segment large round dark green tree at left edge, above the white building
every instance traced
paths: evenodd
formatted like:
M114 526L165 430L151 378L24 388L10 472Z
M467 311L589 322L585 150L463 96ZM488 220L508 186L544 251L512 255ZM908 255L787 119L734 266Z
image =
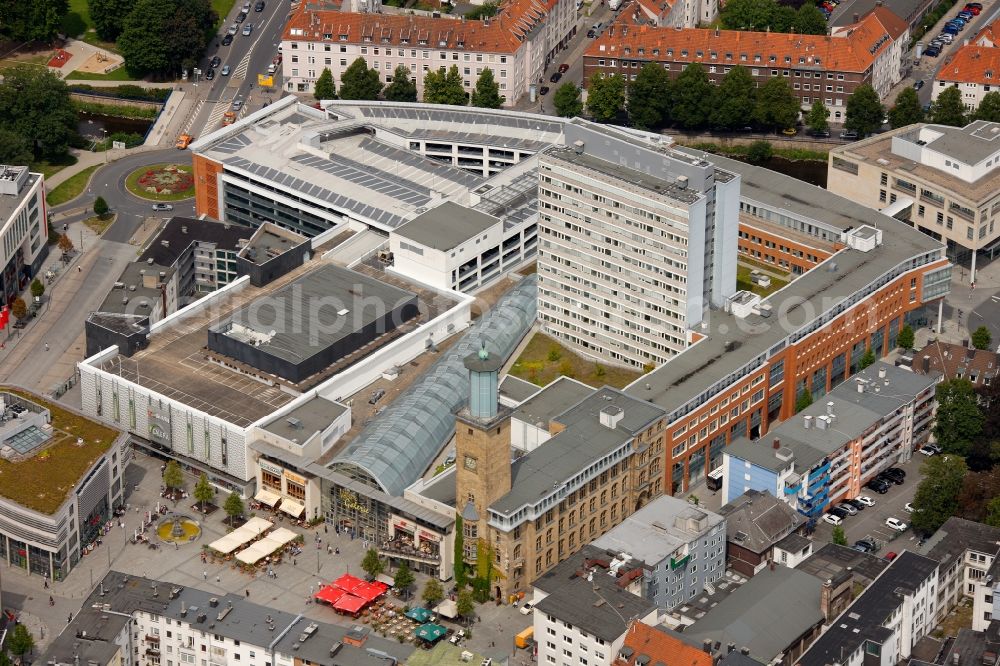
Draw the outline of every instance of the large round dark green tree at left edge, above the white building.
M76 111L69 88L44 67L15 65L0 84L0 130L30 144L38 157L61 157L77 136ZM3 137L0 136L0 139ZM24 144L15 149L21 152ZM0 152L4 149L0 148Z

